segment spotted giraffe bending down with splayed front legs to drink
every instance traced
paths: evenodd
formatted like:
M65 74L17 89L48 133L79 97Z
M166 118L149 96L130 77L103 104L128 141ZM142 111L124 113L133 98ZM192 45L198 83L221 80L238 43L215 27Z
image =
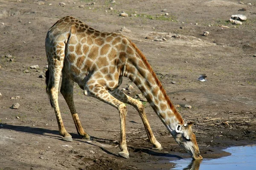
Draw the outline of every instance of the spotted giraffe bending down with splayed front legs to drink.
M80 20L67 16L49 29L45 49L48 62L46 92L54 108L62 140L72 142L72 136L64 127L58 106L61 74L60 92L70 109L77 132L84 139L90 139L90 136L84 131L76 112L73 100L74 82L84 91L85 96L95 97L118 109L121 150L119 156L129 158L125 141L125 103L137 109L152 148L161 150L161 144L155 138L146 118L143 104L118 89L122 77L128 77L143 93L175 141L193 159L202 159L192 132L192 122L184 122L145 56L125 36L96 31Z

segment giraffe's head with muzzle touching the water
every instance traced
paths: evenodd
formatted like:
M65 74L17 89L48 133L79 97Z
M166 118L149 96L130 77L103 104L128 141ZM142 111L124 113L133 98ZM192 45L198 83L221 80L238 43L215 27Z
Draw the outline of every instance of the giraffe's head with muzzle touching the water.
M203 159L200 155L198 144L195 139L195 134L192 132L193 122L188 124L178 124L175 128L175 141L186 150L193 159Z

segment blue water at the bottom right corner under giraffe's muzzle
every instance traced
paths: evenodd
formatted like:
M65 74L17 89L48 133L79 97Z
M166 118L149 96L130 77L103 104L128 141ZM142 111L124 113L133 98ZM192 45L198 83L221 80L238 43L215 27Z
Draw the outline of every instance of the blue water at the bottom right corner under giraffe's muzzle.
M256 145L229 147L230 156L218 159L179 159L171 170L256 170Z

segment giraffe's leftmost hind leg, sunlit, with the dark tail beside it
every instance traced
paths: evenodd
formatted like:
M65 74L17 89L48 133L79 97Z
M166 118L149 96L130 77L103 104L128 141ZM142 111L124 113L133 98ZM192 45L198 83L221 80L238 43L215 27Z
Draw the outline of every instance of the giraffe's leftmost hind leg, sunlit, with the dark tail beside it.
M54 108L54 111L55 111L55 116L58 123L58 129L59 129L60 135L63 136L62 140L72 142L73 141L72 136L69 133L67 133L67 130L64 127L64 124L61 118L61 112L58 106L58 86L59 86L59 81L61 77L61 70L63 68L64 53L59 54L58 56L55 56L55 54L47 53L49 68L46 75L48 74L49 77L46 80L47 82L46 91L47 91L47 94L49 95L52 108Z

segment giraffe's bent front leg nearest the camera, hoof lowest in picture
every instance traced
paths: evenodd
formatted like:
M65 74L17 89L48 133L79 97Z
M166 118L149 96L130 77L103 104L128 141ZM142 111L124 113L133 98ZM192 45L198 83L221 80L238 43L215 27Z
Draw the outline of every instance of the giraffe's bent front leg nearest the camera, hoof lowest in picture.
M99 99L102 102L112 105L113 107L118 109L119 115L120 115L120 146L119 147L121 149L121 152L119 152L118 155L128 159L129 152L128 152L126 141L125 141L125 116L127 114L127 108L125 104L123 102L120 102L115 97L113 97L101 85L90 85L90 83L88 83L87 94L88 96L95 97L96 99Z

